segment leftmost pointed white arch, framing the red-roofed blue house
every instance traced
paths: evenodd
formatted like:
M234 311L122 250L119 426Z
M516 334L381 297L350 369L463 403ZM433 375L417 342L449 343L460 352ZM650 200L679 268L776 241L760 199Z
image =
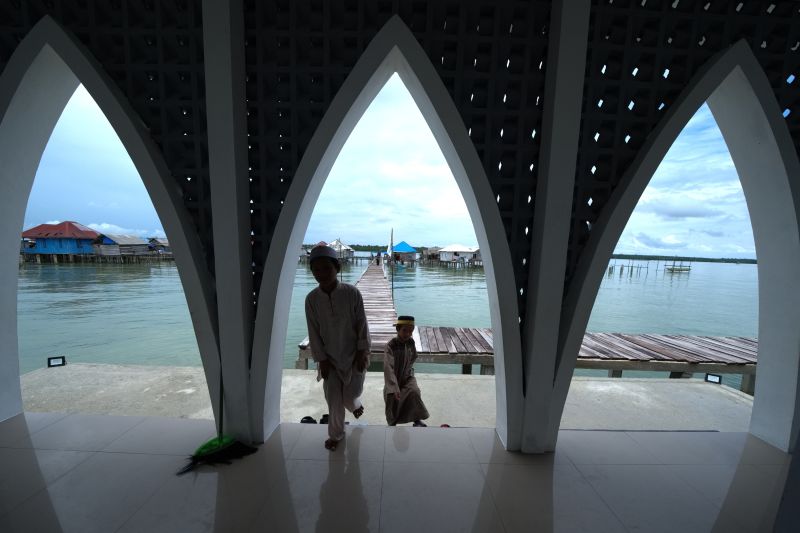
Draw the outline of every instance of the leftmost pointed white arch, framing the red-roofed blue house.
M0 420L21 412L16 320L17 255L33 180L47 141L83 84L125 146L175 256L212 394L219 373L213 284L169 168L139 116L102 66L50 16L20 42L0 76ZM215 407L216 409L216 407Z

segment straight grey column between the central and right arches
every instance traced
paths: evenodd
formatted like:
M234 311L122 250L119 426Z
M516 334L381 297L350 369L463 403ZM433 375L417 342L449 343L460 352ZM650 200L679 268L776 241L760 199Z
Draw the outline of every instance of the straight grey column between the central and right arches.
M583 101L589 1L555 2L547 55L542 151L536 184L528 306L523 328L525 411L522 451L551 451L549 404L557 365L564 271Z

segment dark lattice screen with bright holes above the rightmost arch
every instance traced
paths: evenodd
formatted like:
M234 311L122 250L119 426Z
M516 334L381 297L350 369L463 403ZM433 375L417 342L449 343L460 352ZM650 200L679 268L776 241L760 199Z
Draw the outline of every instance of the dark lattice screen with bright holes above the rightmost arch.
M611 191L692 76L745 39L800 143L800 4L594 0L567 283ZM735 110L731 110L735 112Z

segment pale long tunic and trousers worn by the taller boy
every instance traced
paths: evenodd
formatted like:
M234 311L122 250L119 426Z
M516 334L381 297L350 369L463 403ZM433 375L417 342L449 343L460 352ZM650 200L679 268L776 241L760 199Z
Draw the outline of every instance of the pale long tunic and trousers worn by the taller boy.
M369 353L369 328L361 293L337 282L326 293L319 287L306 296L308 340L314 361L330 361L331 372L323 383L328 403L328 436L344 438L344 410L361 406L364 372L354 366L357 350ZM317 378L319 379L319 377Z

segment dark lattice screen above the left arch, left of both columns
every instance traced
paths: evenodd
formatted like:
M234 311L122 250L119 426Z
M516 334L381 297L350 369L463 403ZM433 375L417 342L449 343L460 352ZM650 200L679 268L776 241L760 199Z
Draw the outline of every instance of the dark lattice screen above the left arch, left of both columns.
M149 129L213 272L200 0L3 0L0 69L45 15L89 49Z

